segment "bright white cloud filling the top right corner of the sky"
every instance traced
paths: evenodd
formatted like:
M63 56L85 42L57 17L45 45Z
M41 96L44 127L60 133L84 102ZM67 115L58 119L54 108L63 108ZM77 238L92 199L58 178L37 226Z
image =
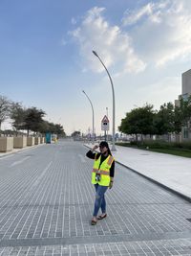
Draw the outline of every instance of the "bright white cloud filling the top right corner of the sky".
M146 62L164 66L191 54L191 3L166 0L125 12L123 25L131 27L138 54Z

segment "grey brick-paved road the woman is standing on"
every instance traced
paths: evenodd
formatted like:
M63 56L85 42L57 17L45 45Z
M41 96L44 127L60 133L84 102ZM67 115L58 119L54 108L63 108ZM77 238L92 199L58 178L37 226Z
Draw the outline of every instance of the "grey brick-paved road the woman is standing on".
M0 158L0 255L191 255L191 204L117 165L90 225L93 161L69 141Z

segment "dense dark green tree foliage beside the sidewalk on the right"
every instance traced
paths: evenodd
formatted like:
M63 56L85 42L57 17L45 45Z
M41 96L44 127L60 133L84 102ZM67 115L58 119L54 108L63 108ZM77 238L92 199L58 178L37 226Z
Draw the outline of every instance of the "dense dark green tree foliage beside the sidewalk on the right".
M167 103L154 111L152 105L138 107L121 120L119 130L126 134L179 134L182 127L191 128L191 96L181 99L180 105Z

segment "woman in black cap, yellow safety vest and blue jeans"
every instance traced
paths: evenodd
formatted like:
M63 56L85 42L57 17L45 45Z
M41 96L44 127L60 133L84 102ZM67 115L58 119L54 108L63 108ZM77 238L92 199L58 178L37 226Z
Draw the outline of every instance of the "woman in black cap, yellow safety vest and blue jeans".
M98 147L100 152L94 152ZM113 187L115 159L106 141L100 142L99 146L94 146L91 151L86 153L86 156L95 159L92 171L92 183L96 188L96 200L91 224L96 225L97 220L102 220L107 217L104 194L108 187L110 189ZM97 217L99 208L101 208L102 214Z

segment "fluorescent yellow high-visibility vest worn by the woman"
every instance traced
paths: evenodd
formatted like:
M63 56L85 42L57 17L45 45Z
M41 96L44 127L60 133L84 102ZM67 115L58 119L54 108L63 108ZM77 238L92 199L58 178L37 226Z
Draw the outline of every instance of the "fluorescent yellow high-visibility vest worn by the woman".
M100 186L109 186L110 168L114 161L114 157L112 155L108 155L108 157L101 163L101 165L100 160L101 155L98 157L98 159L95 158L95 163L92 172L92 183L98 183ZM100 181L96 181L96 174L100 175Z

